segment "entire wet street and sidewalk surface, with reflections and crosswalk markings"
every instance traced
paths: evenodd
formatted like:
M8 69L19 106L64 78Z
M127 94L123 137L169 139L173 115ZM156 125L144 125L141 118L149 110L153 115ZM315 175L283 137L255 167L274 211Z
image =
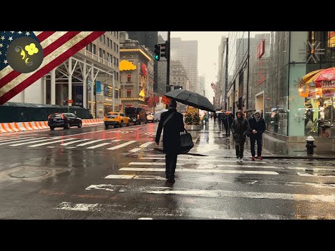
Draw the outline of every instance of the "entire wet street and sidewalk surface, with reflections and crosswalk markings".
M334 219L334 160L237 163L210 121L165 181L157 123L0 135L1 219ZM271 155L264 151L264 155Z

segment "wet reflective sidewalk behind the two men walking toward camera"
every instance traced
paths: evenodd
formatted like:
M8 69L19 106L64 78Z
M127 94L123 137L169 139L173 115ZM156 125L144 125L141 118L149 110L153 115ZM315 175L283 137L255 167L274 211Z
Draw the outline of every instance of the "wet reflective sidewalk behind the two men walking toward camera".
M193 137L195 146L188 154L217 156L219 158L236 158L235 145L230 137L225 137L225 129L219 128L218 123L214 124L213 119L209 119L209 123L202 130L188 131ZM264 142L264 139L263 139ZM274 144L278 146L278 144ZM263 144L264 146L264 144ZM255 146L257 149L257 146ZM313 155L307 155L306 147L301 149L301 146L294 146L293 149L288 149L289 154L283 153L279 147L272 147L272 149L262 148L263 158L295 158L295 159L334 159L334 151L316 152ZM257 151L257 150L256 150ZM246 138L244 145L244 158L251 158L250 139Z

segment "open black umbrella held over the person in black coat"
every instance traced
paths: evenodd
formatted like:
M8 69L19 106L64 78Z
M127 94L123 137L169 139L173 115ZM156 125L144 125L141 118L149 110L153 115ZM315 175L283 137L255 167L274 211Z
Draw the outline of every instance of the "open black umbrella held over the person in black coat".
M185 105L191 105L195 108L199 108L209 112L215 112L214 106L211 105L208 98L201 96L198 93L192 91L186 91L183 89L175 89L164 94L168 98L181 102Z

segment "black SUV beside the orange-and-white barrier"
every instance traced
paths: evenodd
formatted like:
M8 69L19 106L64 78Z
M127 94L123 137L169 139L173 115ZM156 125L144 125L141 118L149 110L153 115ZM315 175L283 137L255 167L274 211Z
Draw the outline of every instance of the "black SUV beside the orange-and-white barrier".
M47 126L54 128L70 129L71 126L82 127L82 119L73 113L53 113L47 117Z

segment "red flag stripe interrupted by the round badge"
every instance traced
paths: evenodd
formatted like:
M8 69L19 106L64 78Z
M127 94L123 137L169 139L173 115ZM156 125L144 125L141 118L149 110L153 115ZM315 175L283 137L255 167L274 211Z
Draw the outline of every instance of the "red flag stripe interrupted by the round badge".
M56 40L53 39L52 40L53 42L50 45L47 45L47 47L43 49L44 58L50 53L52 53L54 50L56 50L58 47L66 43L68 40L77 36L78 33L80 33L80 31L75 31L75 32L70 31L70 32L64 33L63 36L61 36L60 38L57 38ZM6 75L5 77L1 79L0 88L2 88L6 84L8 84L8 82L12 81L13 79L15 79L15 77L18 77L20 75L21 73L18 73L16 70L13 70L11 73L9 73L8 75Z

